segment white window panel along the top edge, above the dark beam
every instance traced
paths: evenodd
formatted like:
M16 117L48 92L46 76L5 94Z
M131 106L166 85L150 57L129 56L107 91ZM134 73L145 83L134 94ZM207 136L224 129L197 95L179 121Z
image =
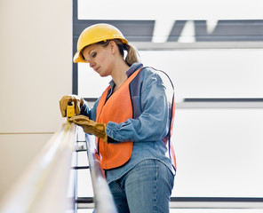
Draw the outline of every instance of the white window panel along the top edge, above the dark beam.
M262 1L253 0L78 0L80 20L260 20ZM107 7L101 7L107 5ZM125 5L129 9L124 10ZM139 6L138 6L139 5ZM226 6L227 5L227 6ZM91 8L100 8L91 10ZM146 10L147 8L147 10ZM104 9L104 10L103 10ZM136 12L136 14L134 14Z

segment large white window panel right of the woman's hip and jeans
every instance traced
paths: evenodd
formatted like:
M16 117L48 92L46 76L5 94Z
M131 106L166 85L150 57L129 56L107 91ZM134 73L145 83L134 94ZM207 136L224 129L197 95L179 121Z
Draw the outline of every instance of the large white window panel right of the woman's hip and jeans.
M177 109L176 197L263 197L263 109Z

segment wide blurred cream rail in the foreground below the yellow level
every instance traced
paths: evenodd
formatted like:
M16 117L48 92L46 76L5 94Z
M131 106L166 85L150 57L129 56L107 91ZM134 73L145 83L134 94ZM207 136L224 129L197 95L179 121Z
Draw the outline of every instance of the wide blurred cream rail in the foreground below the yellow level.
M1 213L65 212L68 181L76 146L76 124L64 123L0 201Z

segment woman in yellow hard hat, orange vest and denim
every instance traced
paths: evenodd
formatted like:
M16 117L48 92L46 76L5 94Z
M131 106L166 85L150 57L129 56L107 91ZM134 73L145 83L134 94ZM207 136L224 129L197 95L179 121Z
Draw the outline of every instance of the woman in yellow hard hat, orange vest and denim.
M160 75L143 67L138 51L108 24L84 29L74 62L112 77L92 108L67 95L60 99L60 111L66 116L68 102L74 101L78 115L69 121L97 137L97 156L118 212L169 212L175 172L163 143L171 118Z

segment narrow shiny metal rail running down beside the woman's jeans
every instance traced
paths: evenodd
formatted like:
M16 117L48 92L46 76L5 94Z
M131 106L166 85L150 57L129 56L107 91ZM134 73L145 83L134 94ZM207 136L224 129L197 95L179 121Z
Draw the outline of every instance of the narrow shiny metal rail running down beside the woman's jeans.
M116 213L117 210L113 196L110 193L108 183L103 170L101 169L100 161L95 158L94 139L88 134L85 134L85 138L91 170L96 213Z

